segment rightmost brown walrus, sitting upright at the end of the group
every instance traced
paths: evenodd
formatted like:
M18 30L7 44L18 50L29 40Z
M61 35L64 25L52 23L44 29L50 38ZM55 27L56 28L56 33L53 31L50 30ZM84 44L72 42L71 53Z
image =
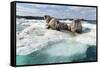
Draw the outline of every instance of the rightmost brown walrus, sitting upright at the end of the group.
M80 19L75 19L68 26L68 30L73 33L82 33L82 23Z

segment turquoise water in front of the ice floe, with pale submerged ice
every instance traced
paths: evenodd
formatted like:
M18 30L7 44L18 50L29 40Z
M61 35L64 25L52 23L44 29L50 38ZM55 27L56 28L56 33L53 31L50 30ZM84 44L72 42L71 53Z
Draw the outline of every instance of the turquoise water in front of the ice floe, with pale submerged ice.
M91 61L96 59L96 49L74 41L48 43L47 47L29 55L17 55L17 65Z

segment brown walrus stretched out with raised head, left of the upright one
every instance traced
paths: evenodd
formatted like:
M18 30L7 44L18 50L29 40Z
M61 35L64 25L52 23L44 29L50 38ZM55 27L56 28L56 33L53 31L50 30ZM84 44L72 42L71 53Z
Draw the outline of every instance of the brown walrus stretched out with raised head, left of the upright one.
M65 23L59 22L58 19L51 17L49 15L45 15L44 19L46 20L47 29L51 28L54 30L67 30L68 26Z

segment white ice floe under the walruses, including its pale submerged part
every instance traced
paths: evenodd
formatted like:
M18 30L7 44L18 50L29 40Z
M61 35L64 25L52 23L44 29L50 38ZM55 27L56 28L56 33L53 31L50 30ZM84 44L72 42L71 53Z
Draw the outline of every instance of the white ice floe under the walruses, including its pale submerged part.
M71 21L63 21L71 22ZM31 23L31 24L30 24ZM28 55L35 51L41 50L47 46L55 46L55 49L48 49L46 53L50 56L68 56L72 57L76 54L85 54L89 46L96 45L96 25L83 22L83 31L87 28L88 32L73 36L68 31L56 31L46 29L44 20L27 20L22 23L22 26L27 26L17 36L16 53L17 55ZM65 49L59 46L65 46ZM59 52L56 52L60 50ZM65 51L66 50L66 51ZM56 53L55 53L56 52ZM67 54L65 54L67 53ZM85 56L85 55L84 55ZM83 57L84 57L83 56Z

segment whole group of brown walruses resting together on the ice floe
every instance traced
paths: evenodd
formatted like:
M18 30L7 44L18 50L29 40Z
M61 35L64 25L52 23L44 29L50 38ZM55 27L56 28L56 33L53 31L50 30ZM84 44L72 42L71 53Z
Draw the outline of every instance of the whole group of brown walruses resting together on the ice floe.
M68 30L73 33L82 33L82 23L80 19L73 20L70 25L67 23L60 22L55 17L45 15L44 19L46 20L47 29L51 28L53 30Z

